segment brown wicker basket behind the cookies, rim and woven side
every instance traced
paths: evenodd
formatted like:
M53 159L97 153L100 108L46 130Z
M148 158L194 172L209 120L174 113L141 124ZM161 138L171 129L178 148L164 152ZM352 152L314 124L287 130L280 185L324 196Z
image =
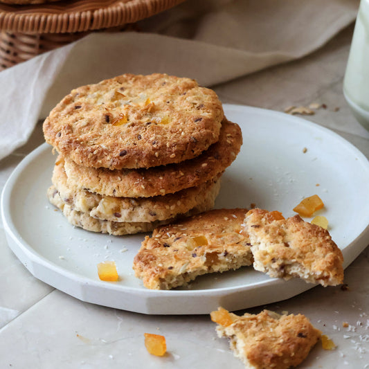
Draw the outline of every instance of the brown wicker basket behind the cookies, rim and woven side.
M38 6L0 4L0 70L80 39L130 24L184 0L69 0Z

